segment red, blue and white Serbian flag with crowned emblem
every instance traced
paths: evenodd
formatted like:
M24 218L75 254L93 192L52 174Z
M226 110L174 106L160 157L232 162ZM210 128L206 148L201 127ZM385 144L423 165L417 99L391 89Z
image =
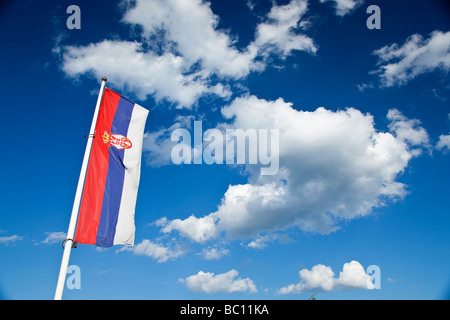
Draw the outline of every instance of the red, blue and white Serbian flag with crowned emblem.
M134 211L148 110L105 89L81 199L75 243L134 244Z

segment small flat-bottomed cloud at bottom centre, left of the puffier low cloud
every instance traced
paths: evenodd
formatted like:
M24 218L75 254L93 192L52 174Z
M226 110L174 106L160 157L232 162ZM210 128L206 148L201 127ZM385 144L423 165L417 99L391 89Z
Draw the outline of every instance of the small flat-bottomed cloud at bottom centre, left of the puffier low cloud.
M249 278L241 279L236 277L239 272L232 269L228 272L214 275L211 272L199 271L197 274L180 279L180 282L186 283L189 290L194 292L216 293L216 292L245 292L255 293L255 284Z

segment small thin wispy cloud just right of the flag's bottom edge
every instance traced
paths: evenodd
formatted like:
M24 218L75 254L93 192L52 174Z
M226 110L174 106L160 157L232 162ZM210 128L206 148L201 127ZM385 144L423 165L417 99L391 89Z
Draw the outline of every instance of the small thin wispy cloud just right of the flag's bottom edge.
M154 243L148 239L144 239L141 243L135 245L134 247L124 246L117 251L132 251L133 254L148 256L157 260L157 262L175 260L185 253L185 251L179 246L175 246L174 248L166 247L158 243Z

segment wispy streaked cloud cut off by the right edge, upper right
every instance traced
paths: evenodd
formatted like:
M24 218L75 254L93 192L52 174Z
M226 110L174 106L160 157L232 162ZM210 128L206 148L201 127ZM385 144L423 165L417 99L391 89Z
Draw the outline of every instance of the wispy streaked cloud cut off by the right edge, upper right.
M428 39L419 34L410 36L399 46L397 43L375 50L379 58L381 84L386 87L404 85L417 76L450 69L450 31L433 31Z

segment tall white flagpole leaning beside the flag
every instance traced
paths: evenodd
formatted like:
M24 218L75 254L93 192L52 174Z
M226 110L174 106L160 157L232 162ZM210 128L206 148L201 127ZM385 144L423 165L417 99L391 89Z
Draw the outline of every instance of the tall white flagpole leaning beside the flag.
M58 283L56 285L55 300L61 300L64 290L64 284L66 282L67 267L69 266L70 251L73 246L73 238L75 235L75 226L77 224L78 211L80 209L81 194L83 192L84 180L86 177L87 166L89 162L89 155L91 154L92 140L94 139L95 126L97 125L98 113L100 111L100 104L103 97L103 91L105 89L106 78L102 78L102 84L100 86L100 92L98 93L97 105L95 106L94 117L92 118L91 130L89 131L88 142L86 144L86 150L84 152L83 164L81 165L81 173L78 178L77 191L75 193L75 200L73 202L72 215L70 216L69 230L67 231L67 237L64 246L63 258L61 261L61 269L59 270Z

